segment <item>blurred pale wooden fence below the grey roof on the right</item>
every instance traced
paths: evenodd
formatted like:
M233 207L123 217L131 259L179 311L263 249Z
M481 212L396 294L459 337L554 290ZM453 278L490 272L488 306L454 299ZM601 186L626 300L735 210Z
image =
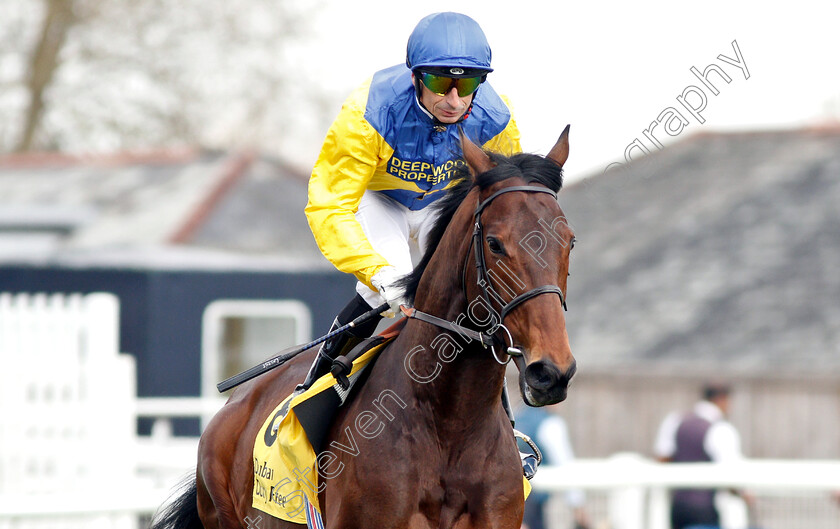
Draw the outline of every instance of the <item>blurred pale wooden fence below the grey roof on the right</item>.
M795 353L792 353L795 354ZM732 387L729 421L756 458L840 458L840 376L719 366L588 366L585 357L560 405L579 457L651 454L662 419L687 411L708 381Z

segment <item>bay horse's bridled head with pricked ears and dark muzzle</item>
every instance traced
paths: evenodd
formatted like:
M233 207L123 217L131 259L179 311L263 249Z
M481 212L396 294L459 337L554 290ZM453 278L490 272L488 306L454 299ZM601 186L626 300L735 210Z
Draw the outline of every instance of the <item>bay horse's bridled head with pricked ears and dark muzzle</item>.
M555 194L568 134L567 126L545 158L488 156L462 137L464 159L479 183L466 294L489 302L501 320L496 336L513 355L521 351L514 360L530 406L564 400L575 373L563 312L574 233Z

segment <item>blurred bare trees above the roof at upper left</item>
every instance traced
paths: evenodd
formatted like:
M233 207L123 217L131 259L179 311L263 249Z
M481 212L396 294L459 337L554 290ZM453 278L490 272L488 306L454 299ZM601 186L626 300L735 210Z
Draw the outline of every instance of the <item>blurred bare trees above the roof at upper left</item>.
M0 48L20 65L0 70L0 150L299 156L332 118L307 77L323 0L22 1L0 0L0 42L23 36Z

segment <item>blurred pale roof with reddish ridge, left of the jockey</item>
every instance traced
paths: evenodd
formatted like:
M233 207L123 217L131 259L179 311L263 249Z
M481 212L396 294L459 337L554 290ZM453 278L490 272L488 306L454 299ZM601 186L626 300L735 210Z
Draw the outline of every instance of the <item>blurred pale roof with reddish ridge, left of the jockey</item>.
M0 262L330 268L306 176L249 153L0 158Z

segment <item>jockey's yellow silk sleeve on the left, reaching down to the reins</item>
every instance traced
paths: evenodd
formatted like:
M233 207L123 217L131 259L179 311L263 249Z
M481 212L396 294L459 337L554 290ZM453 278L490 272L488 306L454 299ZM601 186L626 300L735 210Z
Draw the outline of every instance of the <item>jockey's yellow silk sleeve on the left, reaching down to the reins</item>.
M345 101L330 127L309 179L305 212L324 257L373 288L370 278L388 261L373 249L355 216L384 143L364 117L368 86Z

